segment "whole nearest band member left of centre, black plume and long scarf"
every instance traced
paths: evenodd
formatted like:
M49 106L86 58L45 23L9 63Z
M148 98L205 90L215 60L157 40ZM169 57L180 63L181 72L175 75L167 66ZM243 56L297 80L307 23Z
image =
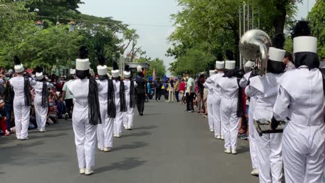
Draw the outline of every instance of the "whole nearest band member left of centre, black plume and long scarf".
M100 85L90 77L90 62L88 48L81 46L76 59L76 77L78 79L67 86L74 96L74 112L72 126L78 156L79 173L91 175L94 173L94 155L96 148L97 124L101 123L99 109Z

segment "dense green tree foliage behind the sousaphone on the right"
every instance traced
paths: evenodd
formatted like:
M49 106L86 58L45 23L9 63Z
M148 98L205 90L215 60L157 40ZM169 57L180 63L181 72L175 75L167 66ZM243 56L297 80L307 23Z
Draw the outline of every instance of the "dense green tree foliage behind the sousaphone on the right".
M255 22L258 22L257 7L260 7L260 29L273 35L292 24L296 3L300 1L256 0L251 1L250 6L255 7ZM239 7L243 5L244 1L238 0L178 0L182 10L171 15L176 30L169 36L172 46L166 53L176 61L169 71L181 74L208 69L216 55L228 49L235 53L235 60L239 60Z

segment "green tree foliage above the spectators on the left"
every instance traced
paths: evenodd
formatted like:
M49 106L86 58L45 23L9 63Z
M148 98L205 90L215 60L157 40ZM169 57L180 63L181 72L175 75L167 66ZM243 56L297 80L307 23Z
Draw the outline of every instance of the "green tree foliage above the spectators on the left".
M90 48L94 69L99 55L104 55L106 64L111 65L126 49L131 55L129 60L145 53L138 46L140 37L136 30L112 17L84 15L77 10L80 3L81 0L1 1L1 66L12 67L13 55L19 55L26 67L70 66L79 46ZM34 26L38 20L43 21L42 30ZM69 32L67 23L71 20L76 22L76 28ZM122 38L117 36L120 34Z

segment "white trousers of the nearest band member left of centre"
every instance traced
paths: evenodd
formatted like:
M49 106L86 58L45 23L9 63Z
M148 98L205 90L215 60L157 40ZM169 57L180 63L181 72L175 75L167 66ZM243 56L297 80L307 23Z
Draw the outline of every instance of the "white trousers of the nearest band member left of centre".
M74 141L79 168L92 168L96 148L96 125L90 125L88 111L74 108L72 115Z

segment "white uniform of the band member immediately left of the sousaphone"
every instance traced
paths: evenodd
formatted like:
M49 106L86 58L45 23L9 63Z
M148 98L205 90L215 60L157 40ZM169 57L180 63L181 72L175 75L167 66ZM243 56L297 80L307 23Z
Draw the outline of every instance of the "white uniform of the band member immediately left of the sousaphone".
M223 77L218 80L217 85L221 87L221 121L222 131L224 132L224 148L237 148L237 134L239 119L237 116L238 107L238 81L237 78Z

